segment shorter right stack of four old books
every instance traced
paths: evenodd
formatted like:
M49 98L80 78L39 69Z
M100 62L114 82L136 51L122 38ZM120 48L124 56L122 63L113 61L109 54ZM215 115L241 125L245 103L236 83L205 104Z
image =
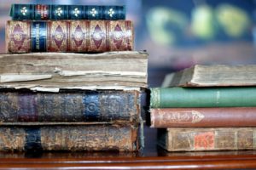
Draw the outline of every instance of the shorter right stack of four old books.
M169 151L256 149L256 65L195 65L151 88L151 127Z

